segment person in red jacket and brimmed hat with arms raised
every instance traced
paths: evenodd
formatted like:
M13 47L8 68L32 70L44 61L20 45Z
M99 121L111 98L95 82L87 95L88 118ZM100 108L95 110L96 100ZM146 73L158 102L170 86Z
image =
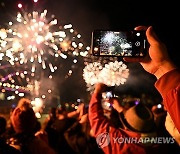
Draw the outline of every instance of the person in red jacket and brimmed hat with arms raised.
M169 154L178 151L172 137L160 136L151 109L142 102L123 109L120 103L117 103L117 98L111 98L110 102L119 112L121 122L119 128L115 127L111 119L104 115L101 104L102 93L107 88L108 86L103 83L96 84L89 104L92 135L105 154Z

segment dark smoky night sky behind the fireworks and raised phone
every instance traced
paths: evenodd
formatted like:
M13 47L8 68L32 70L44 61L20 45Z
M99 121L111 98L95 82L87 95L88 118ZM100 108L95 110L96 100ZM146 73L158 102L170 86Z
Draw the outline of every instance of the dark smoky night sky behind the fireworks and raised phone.
M31 0L1 0L0 24L9 21L8 17L18 11L21 2L27 10L47 9L59 23L71 23L90 45L94 29L128 30L138 25L152 25L159 38L167 45L170 57L179 66L179 14L177 1L133 1L133 0L39 0L34 5ZM120 93L142 92L158 95L154 88L154 76L145 72L140 64L127 63L130 77L119 87ZM77 75L60 84L62 101L78 98L88 100L81 67Z

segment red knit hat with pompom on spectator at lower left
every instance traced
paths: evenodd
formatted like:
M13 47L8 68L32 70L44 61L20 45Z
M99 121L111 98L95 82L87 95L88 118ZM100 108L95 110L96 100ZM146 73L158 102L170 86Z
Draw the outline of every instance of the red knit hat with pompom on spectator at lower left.
M14 109L11 121L16 133L31 133L35 129L37 119L32 108L21 106Z

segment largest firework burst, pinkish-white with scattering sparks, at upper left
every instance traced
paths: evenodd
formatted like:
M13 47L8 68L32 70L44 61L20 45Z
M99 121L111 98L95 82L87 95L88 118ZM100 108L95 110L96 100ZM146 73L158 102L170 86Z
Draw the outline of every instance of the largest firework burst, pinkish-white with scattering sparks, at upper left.
M7 29L0 29L0 60L7 59L11 65L31 63L32 72L41 64L43 69L48 66L54 72L57 68L54 58L87 56L89 48L72 25L57 24L53 15L47 17L47 10L18 13L15 22L9 22Z

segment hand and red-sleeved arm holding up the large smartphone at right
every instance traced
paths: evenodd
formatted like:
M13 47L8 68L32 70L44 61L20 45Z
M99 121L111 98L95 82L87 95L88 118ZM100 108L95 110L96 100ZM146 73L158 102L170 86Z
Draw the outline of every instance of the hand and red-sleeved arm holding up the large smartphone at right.
M155 75L157 81L155 87L163 98L163 104L171 117L174 126L180 133L180 71L170 59L167 48L162 43L152 26L138 26L135 30L146 30L147 40L150 44L149 53L144 58L128 58L126 62L140 62L142 67L149 73ZM169 118L167 118L169 119ZM168 122L167 122L168 123ZM169 123L170 124L170 123ZM171 126L167 126L168 128ZM168 130L169 131L169 130ZM174 136L173 131L169 133ZM177 134L176 134L177 136Z

